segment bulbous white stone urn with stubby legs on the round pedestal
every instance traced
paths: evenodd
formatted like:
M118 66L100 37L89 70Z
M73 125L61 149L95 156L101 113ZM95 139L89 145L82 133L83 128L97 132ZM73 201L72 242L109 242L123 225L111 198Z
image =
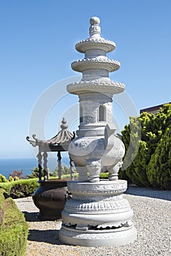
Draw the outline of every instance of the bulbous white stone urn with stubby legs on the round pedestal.
M80 126L81 127L81 126ZM69 144L69 155L79 172L79 180L99 182L101 171L109 172L109 180L118 180L125 153L123 142L116 135L114 124L107 124L104 136L78 136ZM87 176L89 173L89 177Z

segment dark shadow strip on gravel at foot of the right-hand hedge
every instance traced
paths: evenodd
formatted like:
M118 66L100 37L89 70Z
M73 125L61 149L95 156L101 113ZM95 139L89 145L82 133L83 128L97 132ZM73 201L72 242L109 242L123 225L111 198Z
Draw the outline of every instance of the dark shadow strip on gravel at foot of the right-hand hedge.
M138 195L140 197L152 197L152 198L171 201L170 190L157 190L157 189L149 189L145 187L129 187L126 190L125 194Z

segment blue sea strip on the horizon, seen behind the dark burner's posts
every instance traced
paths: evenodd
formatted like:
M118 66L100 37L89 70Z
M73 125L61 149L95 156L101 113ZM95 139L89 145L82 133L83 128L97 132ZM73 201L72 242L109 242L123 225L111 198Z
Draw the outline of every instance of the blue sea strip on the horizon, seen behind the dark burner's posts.
M50 172L56 169L58 166L57 158L49 157L47 158L47 167L50 169ZM62 157L62 165L69 166L69 157ZM27 174L31 174L31 170L34 170L34 167L37 167L38 162L36 158L14 158L14 159L0 159L0 174L9 178L9 174L12 173L12 170L22 170L23 176L26 178ZM43 167L43 160L42 160Z

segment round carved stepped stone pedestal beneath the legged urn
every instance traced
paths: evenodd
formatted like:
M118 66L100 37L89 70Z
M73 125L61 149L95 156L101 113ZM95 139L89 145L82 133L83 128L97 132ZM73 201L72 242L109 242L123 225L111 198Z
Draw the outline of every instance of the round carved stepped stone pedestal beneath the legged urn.
M122 196L127 188L126 181L68 181L67 187L72 199L66 202L61 214L61 242L113 246L134 241L137 232L132 223L133 211Z

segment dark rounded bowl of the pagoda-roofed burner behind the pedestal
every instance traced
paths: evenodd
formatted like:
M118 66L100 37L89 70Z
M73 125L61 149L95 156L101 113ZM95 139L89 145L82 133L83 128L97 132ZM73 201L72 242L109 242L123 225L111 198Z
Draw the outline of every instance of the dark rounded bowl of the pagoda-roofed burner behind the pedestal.
M66 200L70 198L67 191L66 180L38 181L39 187L34 192L33 200L39 208L39 219L61 219L61 211L64 209Z

